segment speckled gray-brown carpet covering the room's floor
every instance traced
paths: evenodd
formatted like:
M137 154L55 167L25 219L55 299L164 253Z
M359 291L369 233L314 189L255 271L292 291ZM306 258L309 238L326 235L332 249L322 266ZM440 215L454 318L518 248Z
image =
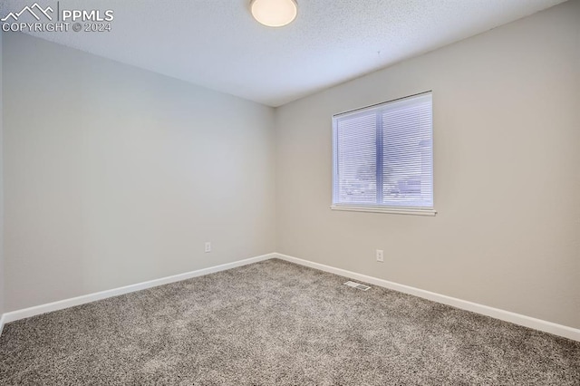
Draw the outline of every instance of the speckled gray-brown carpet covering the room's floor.
M580 385L580 343L268 260L9 323L10 385Z

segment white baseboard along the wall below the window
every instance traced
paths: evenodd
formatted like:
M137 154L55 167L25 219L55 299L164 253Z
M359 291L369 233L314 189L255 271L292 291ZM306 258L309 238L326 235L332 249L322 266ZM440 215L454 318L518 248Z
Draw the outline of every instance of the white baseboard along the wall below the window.
M476 314L483 314L491 316L502 321L519 324L525 327L533 328L545 333L553 333L558 336L563 336L568 339L580 342L580 329L568 327L562 324L546 322L541 319L536 319L530 316L516 314L505 310L500 310L498 308L489 307L488 305L477 304L473 302L468 302L467 300L461 300L455 297L447 296L444 294L436 294L430 291L425 291L419 288L411 287L409 285L400 285L398 283L393 283L387 280L382 280L376 277L357 274L355 272L347 271L341 268L335 268L330 265L323 265L318 263L313 263L308 260L303 260L294 256L287 256L282 254L275 254L279 259L289 261L298 265L305 265L311 268L319 269L321 271L329 272L335 275L341 275L354 280L359 280L372 285L378 285L385 288L389 288L395 291L402 292L404 294L412 294L424 299L431 300L433 302L448 304L462 310L471 311Z

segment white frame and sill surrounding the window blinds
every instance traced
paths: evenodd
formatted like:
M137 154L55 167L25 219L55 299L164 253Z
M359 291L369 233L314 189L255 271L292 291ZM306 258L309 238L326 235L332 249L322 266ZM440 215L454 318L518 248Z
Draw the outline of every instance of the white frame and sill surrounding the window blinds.
M417 98L423 95L431 95L431 122L430 122L430 130L431 130L431 162L430 162L430 166L431 166L431 188L432 188L432 206L431 207L419 207L419 206L409 206L409 207L404 207L404 206L389 206L389 205L379 205L379 204L350 204L350 203L340 203L338 202L338 198L337 196L340 194L339 189L338 189L338 184L336 183L336 179L338 177L338 136L337 136L337 130L338 130L338 119L340 117L343 117L344 115L354 115L354 114L359 114L359 113L363 113L364 111L377 111L380 110L383 106L391 104L393 102L399 102L399 101L404 101L404 100L411 100L412 98ZM332 178L332 205L331 205L331 209L333 210L345 210L345 211L353 211L353 212L372 212L372 213L391 213L391 214L401 214L401 215L418 215L418 216L435 216L437 214L437 210L435 210L435 187L434 187L434 156L433 156L433 150L434 150L434 128L433 128L433 118L432 118L432 114L433 114L433 106L432 106L432 91L427 91L427 92L420 92L420 93L416 93L413 95L409 95L409 96L405 96L405 97L401 97L398 99L394 99L391 101L383 101L380 103L375 103L372 104L370 106L365 106L362 108L358 108L358 109L354 109L351 111L343 111L341 113L337 113L333 115L333 119L332 119L332 130L333 130L333 143L332 143L332 152L333 152L333 178ZM382 130L381 130L382 132ZM381 134L380 134L381 135ZM379 147L382 146L382 143L377 143L377 145L375 145L377 150ZM375 168L377 169L382 169L382 163L381 165L375 165ZM381 174L382 172L380 170L376 171L376 175ZM381 174L382 176L382 174ZM379 186L379 182L380 180L377 180L375 182L375 185L378 187ZM382 186L382 184L381 184Z

